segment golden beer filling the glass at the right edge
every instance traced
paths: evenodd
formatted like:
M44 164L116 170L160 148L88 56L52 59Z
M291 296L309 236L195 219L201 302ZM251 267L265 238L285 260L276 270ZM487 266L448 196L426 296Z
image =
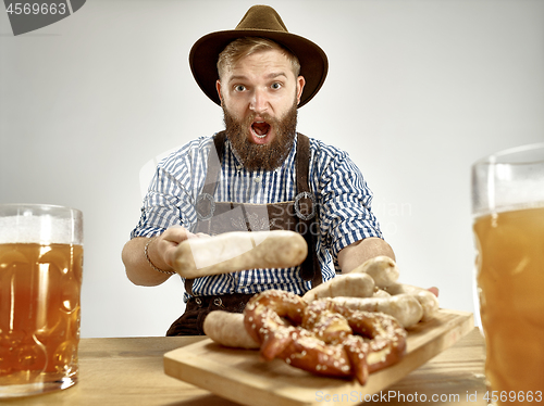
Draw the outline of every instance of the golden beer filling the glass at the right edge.
M544 206L480 216L477 282L486 399L544 401Z

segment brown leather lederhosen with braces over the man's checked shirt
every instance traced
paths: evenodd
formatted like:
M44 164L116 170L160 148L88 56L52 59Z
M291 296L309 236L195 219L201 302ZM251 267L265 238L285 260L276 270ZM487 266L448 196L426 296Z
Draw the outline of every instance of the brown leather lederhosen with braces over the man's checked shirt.
M305 238L308 255L300 265L300 277L311 281L312 288L322 282L316 242L319 236L319 210L308 182L310 163L310 141L308 137L297 134L295 157L296 198L294 201L250 204L234 202L215 202L214 193L221 172L226 135L218 132L213 137L219 163L210 152L208 172L202 192L197 198L196 210L198 221L194 232L210 236L230 231L290 230ZM203 319L209 312L222 309L242 313L254 294L232 293L213 296L195 296L194 279L185 280L185 290L191 295L186 310L169 329L166 335L203 334Z

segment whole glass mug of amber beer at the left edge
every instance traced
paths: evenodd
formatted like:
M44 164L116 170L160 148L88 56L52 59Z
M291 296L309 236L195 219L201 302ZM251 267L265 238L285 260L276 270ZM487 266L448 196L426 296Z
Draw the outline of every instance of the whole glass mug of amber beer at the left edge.
M83 215L0 204L0 401L77 382Z

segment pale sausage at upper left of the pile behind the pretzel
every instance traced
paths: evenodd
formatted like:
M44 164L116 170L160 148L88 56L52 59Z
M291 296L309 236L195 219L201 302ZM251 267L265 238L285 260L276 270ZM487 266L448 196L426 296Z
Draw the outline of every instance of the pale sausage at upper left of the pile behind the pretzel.
M309 290L302 299L310 303L319 297L369 297L374 293L374 280L367 274L339 275Z

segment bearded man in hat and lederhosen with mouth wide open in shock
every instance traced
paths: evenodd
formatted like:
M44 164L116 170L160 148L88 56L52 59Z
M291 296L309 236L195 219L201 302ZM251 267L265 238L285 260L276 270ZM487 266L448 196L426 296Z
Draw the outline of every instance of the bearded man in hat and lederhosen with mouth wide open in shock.
M371 191L348 155L296 132L297 109L321 88L324 52L287 31L280 15L252 7L236 29L191 49L193 74L224 113L225 130L189 142L159 164L138 226L123 250L128 278L156 286L175 274L176 246L226 231L289 229L304 234L299 267L184 278L187 303L169 335L201 334L213 309L240 312L267 289L304 294L335 272L388 255Z

